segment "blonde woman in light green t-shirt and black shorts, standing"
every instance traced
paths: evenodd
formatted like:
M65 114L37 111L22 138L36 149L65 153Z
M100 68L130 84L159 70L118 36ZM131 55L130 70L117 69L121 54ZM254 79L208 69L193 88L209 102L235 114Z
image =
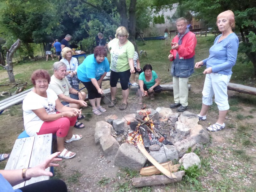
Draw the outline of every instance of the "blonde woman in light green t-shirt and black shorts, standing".
M117 99L117 81L120 79L122 87L123 102L120 110L127 108L127 99L129 96L128 82L131 73L135 73L133 65L134 46L128 41L129 33L125 27L116 29L116 38L108 43L108 51L111 54L111 73L110 73L110 92L111 103L108 107L114 107Z

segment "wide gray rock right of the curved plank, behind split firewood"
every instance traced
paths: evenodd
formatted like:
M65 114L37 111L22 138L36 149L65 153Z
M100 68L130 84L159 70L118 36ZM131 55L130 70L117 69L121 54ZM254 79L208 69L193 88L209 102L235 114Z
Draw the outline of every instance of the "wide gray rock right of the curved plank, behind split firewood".
M165 153L166 156L165 156ZM161 147L159 151L150 151L149 153L158 163L164 163L167 161L174 161L178 160L178 152L176 148L172 145L164 145L164 147Z

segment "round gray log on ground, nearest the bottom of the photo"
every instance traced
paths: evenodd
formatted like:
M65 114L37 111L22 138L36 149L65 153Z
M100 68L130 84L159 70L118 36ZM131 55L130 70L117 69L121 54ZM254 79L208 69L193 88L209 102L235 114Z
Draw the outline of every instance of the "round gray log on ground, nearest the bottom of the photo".
M185 171L179 171L172 173L175 175L175 179L168 178L165 175L154 175L148 177L138 177L132 178L132 185L134 187L145 187L145 186L152 186L152 185L162 185L162 184L170 184L180 182L182 176L185 174Z

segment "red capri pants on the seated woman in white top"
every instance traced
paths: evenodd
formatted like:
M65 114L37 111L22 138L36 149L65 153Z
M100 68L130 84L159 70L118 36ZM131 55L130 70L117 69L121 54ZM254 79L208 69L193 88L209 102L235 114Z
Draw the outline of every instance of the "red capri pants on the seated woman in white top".
M57 112L59 113L59 112ZM70 127L73 127L76 123L77 117L61 117L60 119L44 122L37 135L43 134L55 134L57 137L66 137Z

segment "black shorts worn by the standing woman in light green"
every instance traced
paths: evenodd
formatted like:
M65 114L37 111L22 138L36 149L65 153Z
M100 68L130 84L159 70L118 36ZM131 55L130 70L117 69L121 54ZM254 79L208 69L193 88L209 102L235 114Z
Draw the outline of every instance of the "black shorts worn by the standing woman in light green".
M111 70L110 73L110 87L116 87L118 79L120 79L120 84L122 90L128 89L128 83L131 76L130 69L122 72L114 72Z

